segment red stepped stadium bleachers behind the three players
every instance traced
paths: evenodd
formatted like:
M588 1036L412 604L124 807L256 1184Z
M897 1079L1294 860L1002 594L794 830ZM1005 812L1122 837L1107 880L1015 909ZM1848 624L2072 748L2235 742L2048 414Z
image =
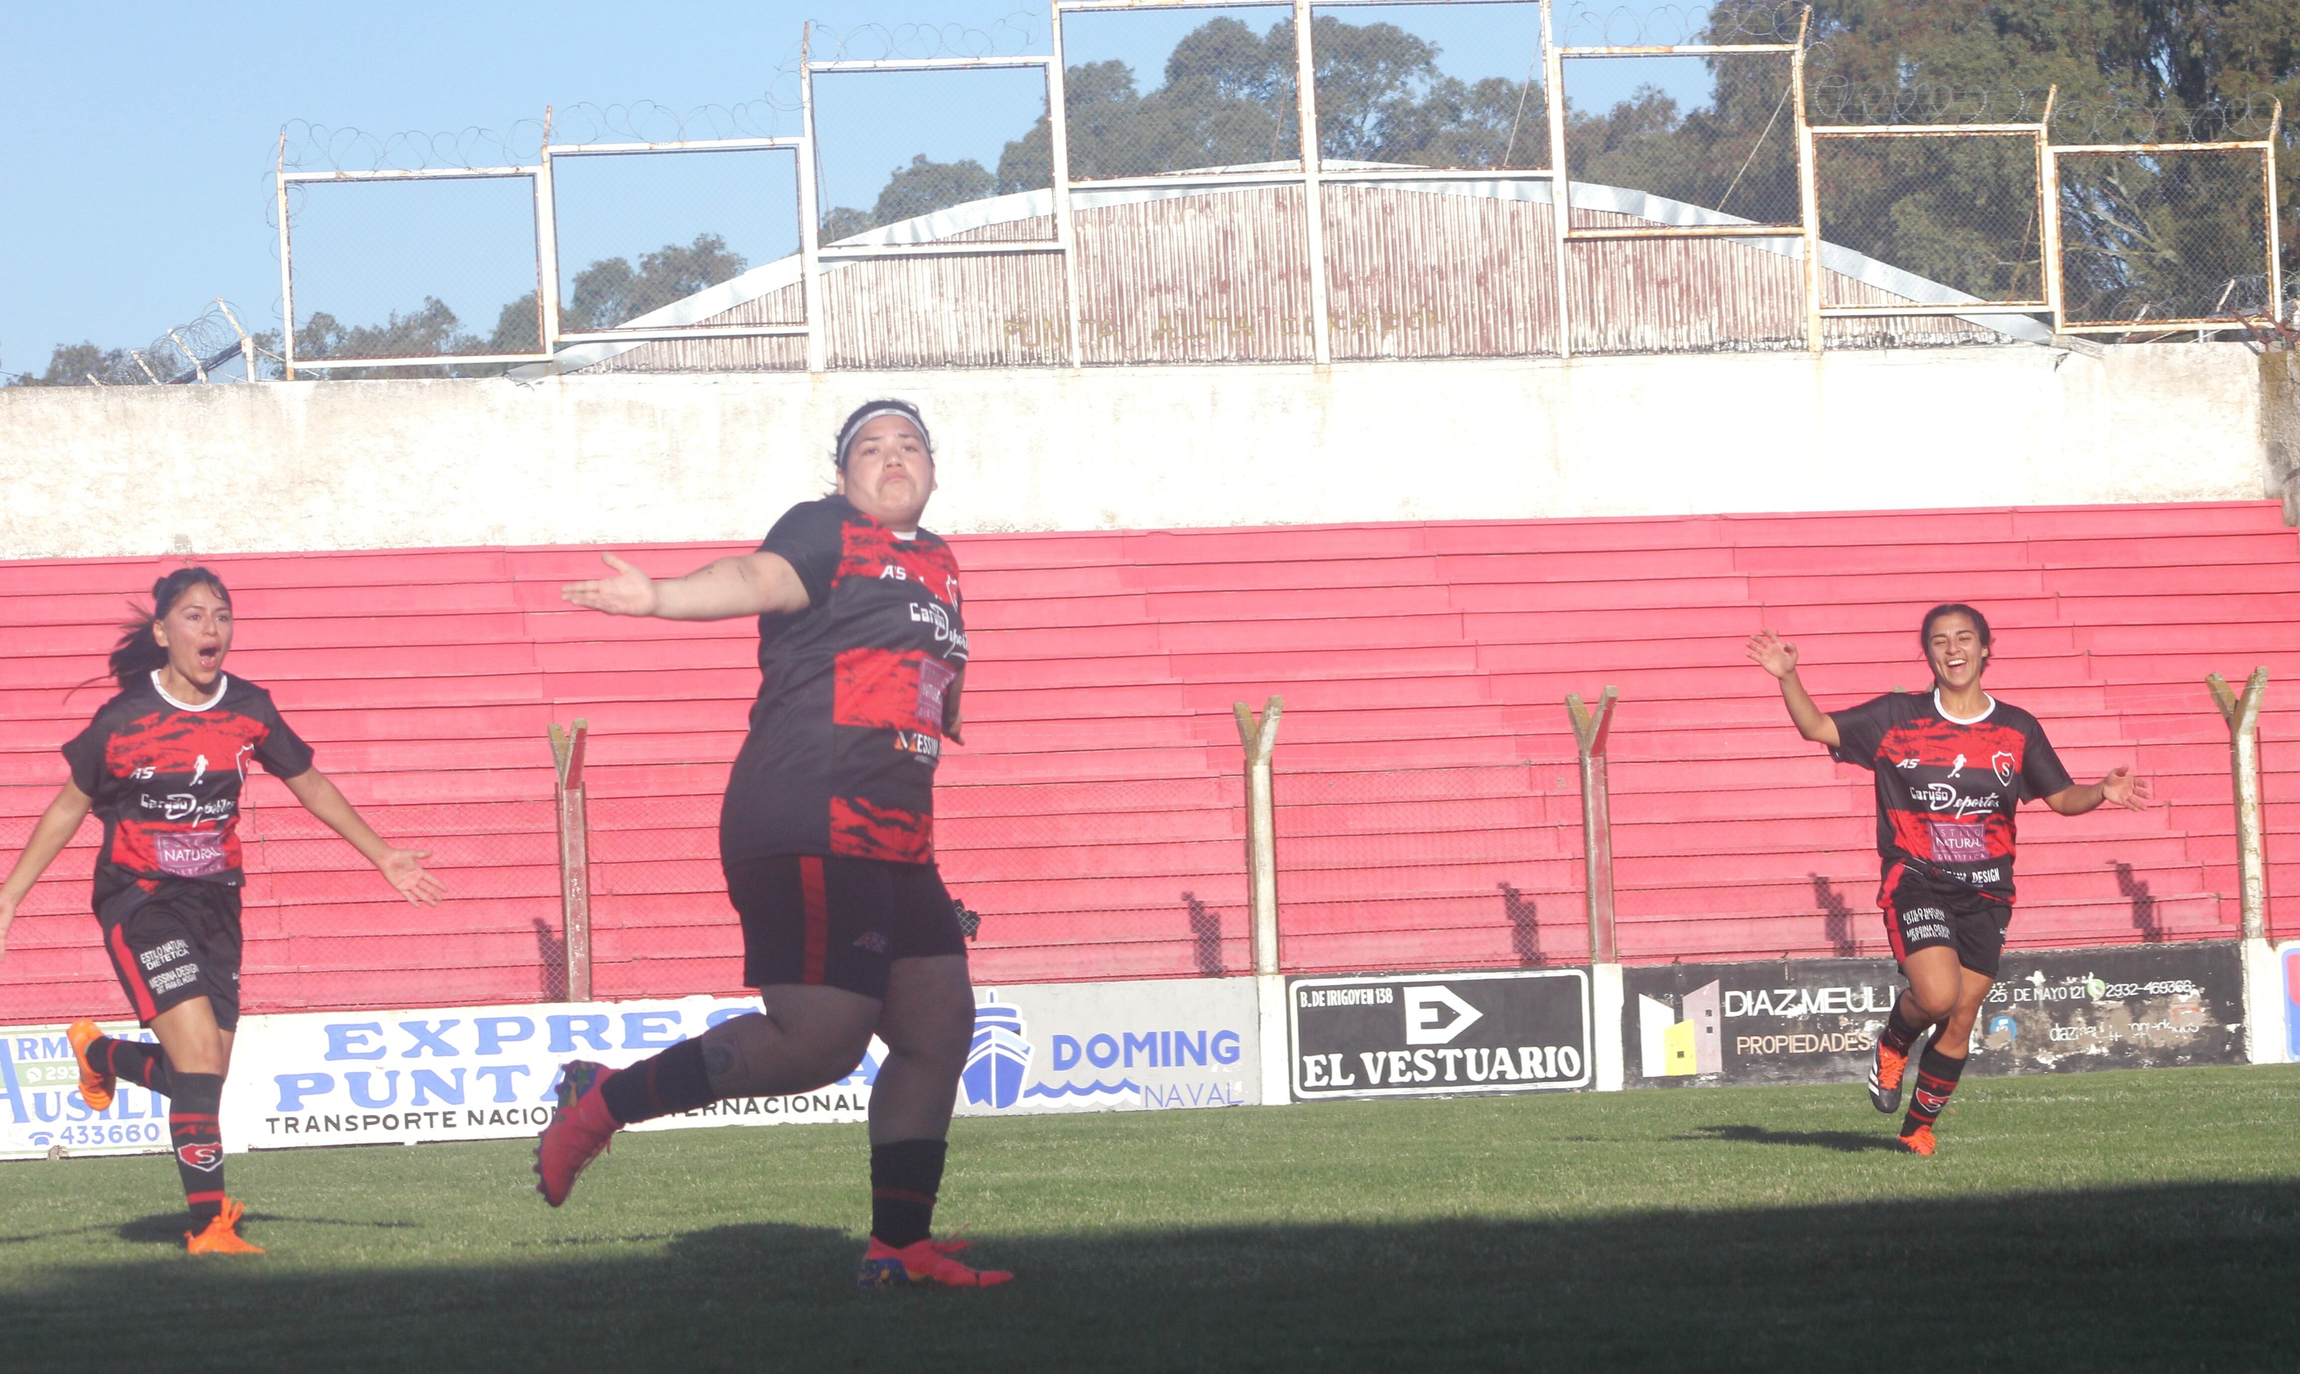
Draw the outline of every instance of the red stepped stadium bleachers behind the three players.
M2022 812L2019 946L2236 934L2229 746L2206 672L2270 670L2270 916L2300 900L2300 543L2270 502L1495 520L952 539L975 665L938 847L977 978L1242 974L1233 702L1286 700L1290 969L1587 957L1564 695L1617 686L1621 957L1879 953L1868 776L1796 739L1741 656L1771 626L1824 707L1925 681L1918 615L1980 605L1987 684L2146 815ZM676 573L724 545L630 557ZM108 693L126 601L179 559L0 564L0 849ZM718 794L757 686L747 621L564 608L591 548L216 555L232 672L274 690L354 803L435 849L414 909L274 780L251 787L248 1006L559 994L550 723L591 727L600 997L722 992ZM85 879L94 826L0 962L9 1020L122 1010Z

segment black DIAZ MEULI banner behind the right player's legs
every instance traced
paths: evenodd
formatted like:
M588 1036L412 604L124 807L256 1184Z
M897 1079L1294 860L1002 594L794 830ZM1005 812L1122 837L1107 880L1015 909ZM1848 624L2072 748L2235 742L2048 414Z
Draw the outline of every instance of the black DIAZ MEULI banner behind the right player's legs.
M1888 960L1624 969L1628 1086L1854 1082L1902 990ZM2006 951L1971 1073L2245 1059L2233 944Z

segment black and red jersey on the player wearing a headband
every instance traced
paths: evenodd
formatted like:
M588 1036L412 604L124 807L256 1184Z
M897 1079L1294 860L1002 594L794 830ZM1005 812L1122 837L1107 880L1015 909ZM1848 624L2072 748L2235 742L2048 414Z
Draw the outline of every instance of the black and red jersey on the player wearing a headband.
M720 854L931 863L943 709L966 667L959 562L846 497L791 506L759 550L791 562L807 610L759 617L759 700Z

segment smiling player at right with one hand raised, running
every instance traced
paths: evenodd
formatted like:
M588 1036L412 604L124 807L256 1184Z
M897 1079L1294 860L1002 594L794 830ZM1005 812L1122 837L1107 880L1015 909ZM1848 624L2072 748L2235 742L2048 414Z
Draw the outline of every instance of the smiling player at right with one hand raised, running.
M2012 810L2029 796L2061 815L2102 801L2144 810L2150 789L2128 769L2072 785L2035 716L1980 690L1989 621L1971 605L1934 605L1916 638L1932 665L1930 693L1891 693L1833 713L1796 679L1796 644L1757 631L1748 656L1780 679L1799 734L1877 776L1877 904L1909 990L1877 1036L1868 1089L1879 1112L1900 1107L1909 1047L1939 1026L1900 1125L1902 1148L1930 1155L1932 1123L1964 1073L1973 1017L1996 985L2012 923Z

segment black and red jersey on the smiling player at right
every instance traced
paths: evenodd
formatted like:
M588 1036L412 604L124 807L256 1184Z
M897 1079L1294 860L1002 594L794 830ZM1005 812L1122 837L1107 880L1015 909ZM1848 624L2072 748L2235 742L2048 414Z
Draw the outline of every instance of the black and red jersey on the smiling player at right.
M2068 787L2035 716L1992 697L1978 720L1957 720L1937 693L1891 693L1828 718L1838 723L1828 753L1877 773L1886 872L1914 861L2010 902L2012 812Z

